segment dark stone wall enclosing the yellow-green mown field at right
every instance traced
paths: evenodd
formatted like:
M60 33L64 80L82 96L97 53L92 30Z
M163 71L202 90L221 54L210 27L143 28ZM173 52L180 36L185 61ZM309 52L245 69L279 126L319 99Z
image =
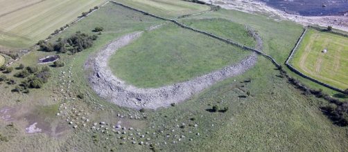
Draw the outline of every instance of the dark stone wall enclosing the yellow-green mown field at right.
M319 80L314 79L313 77L310 77L310 76L308 76L308 75L306 75L306 74L300 72L300 71L297 70L295 67L293 67L291 64L289 64L289 61L290 61L291 59L293 59L293 55L296 53L297 49L299 48L299 44L302 43L302 39L303 39L304 36L306 35L306 32L307 32L308 28L313 28L314 30L317 30L317 29L324 30L324 29L322 29L322 28L314 28L313 26L307 26L306 28L304 28L304 31L302 32L301 37L299 37L299 39L297 40L297 43L296 43L295 47L293 48L293 50L291 50L291 53L290 53L290 55L288 56L288 59L286 59L285 65L286 65L291 71L293 71L294 73L296 73L297 75L299 75L299 76L301 76L301 77L304 77L305 79L309 79L309 80L311 80L312 82L315 82L315 83L320 84L320 85L322 85L322 86L324 86L324 87L330 88L330 89L332 89L333 91L338 91L338 92L340 92L340 93L345 93L345 91L343 91L342 89L336 88L336 87L331 86L330 84L326 84L326 83L324 83L324 82L320 82ZM328 31L328 32L329 32L329 31ZM330 32L333 33L333 34L336 34L336 32L332 32L332 31L330 31ZM345 35L345 34L340 33L340 35ZM348 37L348 35L346 35L346 36Z

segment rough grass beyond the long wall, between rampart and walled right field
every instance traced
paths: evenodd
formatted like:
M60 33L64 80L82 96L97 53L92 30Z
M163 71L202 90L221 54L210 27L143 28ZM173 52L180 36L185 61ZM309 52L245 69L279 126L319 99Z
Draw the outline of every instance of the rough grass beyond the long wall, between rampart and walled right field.
M211 19L211 18L223 18L237 23L245 24L252 27L256 32L261 35L263 39L263 51L268 55L274 57L279 64L284 64L290 50L293 49L298 37L301 35L302 26L292 21L282 21L279 19L273 19L263 15L250 15L245 12L238 12L236 10L218 10L217 12L211 12L204 15L197 15L189 17L190 19ZM186 19L185 19L186 20ZM202 27L202 30L209 30L209 28ZM218 34L219 32L216 32ZM220 35L224 36L224 35ZM295 37L297 37L295 39ZM229 37L228 37L229 38ZM285 65L284 65L285 66ZM291 72L288 68L285 68L289 75L299 79L300 82L306 84L315 89L322 89L324 93L347 99L342 93L333 91L319 84L315 84L308 79L300 77L296 73Z

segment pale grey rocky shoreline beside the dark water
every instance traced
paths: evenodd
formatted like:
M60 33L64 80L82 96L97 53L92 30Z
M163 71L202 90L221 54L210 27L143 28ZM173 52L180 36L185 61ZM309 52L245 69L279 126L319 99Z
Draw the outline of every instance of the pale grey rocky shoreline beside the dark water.
M345 30L348 32L348 13L343 16L320 16L320 17L304 17L301 15L291 15L284 11L277 10L267 6L266 3L253 0L202 0L207 3L221 6L225 9L240 10L243 12L261 12L269 14L270 17L280 17L281 19L289 19L297 23L301 23L304 26L319 25L319 26L333 26L333 28L339 30Z

